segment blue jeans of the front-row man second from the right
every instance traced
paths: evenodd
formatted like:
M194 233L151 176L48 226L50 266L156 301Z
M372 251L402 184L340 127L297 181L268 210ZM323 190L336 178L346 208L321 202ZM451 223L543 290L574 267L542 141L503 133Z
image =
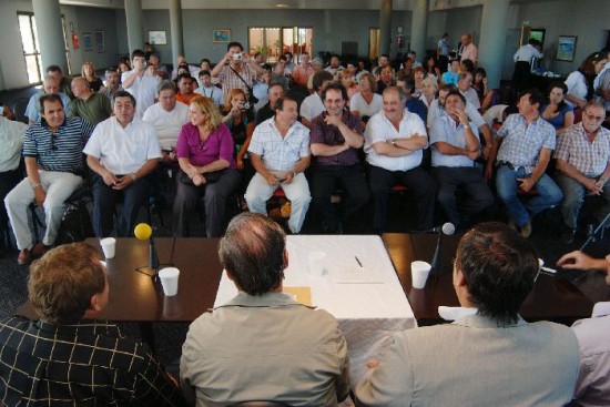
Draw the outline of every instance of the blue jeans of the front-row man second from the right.
M498 196L519 227L529 222L530 214L533 216L548 207L552 207L560 203L562 199L561 190L555 181L547 174L542 174L533 185L538 191L538 195L522 201L517 196L517 189L519 187L517 179L528 179L530 176L531 174L527 173L522 166L511 170L507 165L500 165L496 172Z

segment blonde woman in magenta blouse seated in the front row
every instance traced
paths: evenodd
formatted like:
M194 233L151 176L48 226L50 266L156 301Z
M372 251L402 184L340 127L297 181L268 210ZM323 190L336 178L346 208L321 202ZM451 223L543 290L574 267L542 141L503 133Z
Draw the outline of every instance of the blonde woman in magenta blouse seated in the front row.
M189 220L202 196L205 234L222 236L226 199L241 179L233 150L231 131L223 124L214 102L201 95L193 98L189 123L182 126L176 143L181 173L173 207L175 236L190 236Z

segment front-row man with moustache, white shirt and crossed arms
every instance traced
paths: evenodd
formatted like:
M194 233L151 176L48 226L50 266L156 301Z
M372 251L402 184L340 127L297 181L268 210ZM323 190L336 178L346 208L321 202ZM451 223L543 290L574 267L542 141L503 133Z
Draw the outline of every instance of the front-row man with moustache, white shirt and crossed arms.
M370 164L369 186L373 195L373 227L386 228L388 193L396 184L406 185L417 201L416 230L434 227L436 182L421 169L423 150L428 146L426 125L405 109L405 94L397 87L384 90L384 110L367 123L364 151Z

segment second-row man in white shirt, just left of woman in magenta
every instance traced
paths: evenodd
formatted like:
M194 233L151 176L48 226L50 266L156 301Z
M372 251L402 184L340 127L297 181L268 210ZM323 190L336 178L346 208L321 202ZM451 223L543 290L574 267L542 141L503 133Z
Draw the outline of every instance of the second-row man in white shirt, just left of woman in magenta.
M159 102L146 109L143 121L151 123L159 136L163 162L175 162L175 146L182 126L189 122L189 106L177 103L174 82L159 83Z

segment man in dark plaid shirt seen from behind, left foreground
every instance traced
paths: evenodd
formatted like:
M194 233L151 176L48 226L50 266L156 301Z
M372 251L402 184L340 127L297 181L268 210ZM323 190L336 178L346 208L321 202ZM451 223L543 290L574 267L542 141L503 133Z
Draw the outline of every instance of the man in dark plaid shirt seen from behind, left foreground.
M151 350L95 320L108 304L106 271L87 243L49 251L30 268L38 320L0 322L2 406L181 406Z

